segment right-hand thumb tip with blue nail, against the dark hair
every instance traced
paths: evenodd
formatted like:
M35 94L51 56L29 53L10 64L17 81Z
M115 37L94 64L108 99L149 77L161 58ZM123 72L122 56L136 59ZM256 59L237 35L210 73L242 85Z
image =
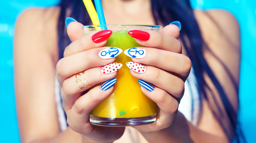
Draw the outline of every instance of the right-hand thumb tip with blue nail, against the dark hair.
M169 25L163 27L163 34L174 37L176 39L180 36L181 23L179 21L174 21Z

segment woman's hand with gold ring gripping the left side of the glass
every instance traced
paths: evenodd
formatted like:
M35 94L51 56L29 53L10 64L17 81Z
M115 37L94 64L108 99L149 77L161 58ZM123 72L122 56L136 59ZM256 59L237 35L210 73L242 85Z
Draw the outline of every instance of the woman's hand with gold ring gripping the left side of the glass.
M102 46L112 32L103 30L82 36L82 26L78 22L68 25L67 32L72 43L66 47L64 58L56 66L63 108L71 129L96 141L111 142L120 138L125 128L92 125L90 112L114 90L111 87L103 91L101 85L95 86L117 75L117 72L101 72L101 67L113 63L115 58L98 56L101 50L109 48Z

